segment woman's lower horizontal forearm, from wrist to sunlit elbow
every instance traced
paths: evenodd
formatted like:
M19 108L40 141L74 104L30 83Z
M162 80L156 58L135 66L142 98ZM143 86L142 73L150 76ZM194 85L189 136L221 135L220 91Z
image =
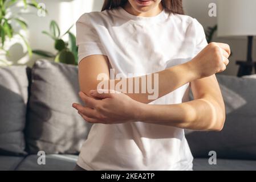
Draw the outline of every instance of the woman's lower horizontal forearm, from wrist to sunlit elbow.
M168 125L191 130L221 130L225 109L210 97L174 105L140 105L141 122Z

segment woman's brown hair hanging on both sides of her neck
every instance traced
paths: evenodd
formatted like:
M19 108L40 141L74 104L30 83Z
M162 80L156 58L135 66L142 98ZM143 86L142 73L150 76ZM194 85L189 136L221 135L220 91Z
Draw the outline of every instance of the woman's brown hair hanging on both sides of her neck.
M123 7L127 2L128 0L105 0L101 11ZM161 3L164 9L170 13L184 14L182 0L162 0Z

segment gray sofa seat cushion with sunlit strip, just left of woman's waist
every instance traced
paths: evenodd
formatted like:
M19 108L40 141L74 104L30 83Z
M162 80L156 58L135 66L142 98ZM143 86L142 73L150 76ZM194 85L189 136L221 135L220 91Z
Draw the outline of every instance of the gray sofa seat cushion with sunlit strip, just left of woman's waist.
M78 155L46 155L45 164L38 164L38 155L29 155L16 168L17 171L72 171Z

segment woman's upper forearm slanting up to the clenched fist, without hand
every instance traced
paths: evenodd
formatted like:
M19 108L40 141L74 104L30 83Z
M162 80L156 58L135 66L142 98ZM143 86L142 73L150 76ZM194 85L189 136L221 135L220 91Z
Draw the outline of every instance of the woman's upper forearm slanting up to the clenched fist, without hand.
M123 80L106 80L105 84L109 85L110 89L115 89L119 92L120 84L126 84L125 87L123 87L124 85L121 86L122 93L127 94L135 101L148 104L180 86L196 80L198 77L195 72L189 63L185 63L148 76L124 78ZM154 76L155 74L157 76ZM138 82L138 80L140 81Z

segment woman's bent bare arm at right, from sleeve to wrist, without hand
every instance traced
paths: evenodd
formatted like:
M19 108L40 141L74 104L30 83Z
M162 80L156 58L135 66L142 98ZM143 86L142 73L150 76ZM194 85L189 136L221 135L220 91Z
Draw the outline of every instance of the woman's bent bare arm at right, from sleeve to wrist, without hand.
M194 100L175 105L147 105L143 121L183 129L220 131L225 122L225 105L215 75L190 83Z

